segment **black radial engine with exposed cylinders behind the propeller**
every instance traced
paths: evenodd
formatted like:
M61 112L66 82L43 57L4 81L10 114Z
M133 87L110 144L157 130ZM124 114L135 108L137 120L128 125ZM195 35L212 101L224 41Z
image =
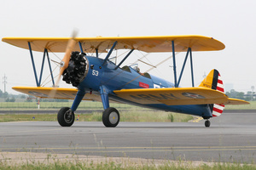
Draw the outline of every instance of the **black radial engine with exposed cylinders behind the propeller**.
M79 53L78 51L72 52L68 67L63 71L62 80L74 87L78 87L79 83L84 80L88 73L88 61L86 54Z

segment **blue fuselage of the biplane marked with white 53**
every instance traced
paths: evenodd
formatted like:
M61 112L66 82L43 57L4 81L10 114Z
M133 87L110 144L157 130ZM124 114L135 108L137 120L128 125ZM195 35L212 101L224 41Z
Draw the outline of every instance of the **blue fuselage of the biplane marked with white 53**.
M113 90L131 89L131 88L174 88L172 82L167 82L159 77L154 77L148 73L141 75L130 66L117 68L117 66L107 61L104 65L103 59L86 56L88 69L86 77L79 83L79 90L85 93L93 92L101 94L101 88L108 94L108 98L122 103L139 105L162 111L174 111L179 113L191 114L195 116L212 117L212 112L208 105L141 105L125 99L119 98L113 94Z

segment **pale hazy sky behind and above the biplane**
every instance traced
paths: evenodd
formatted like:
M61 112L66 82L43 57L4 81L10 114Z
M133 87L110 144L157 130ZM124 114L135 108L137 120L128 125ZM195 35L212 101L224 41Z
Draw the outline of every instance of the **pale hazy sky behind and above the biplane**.
M70 37L74 28L79 29L78 37L191 34L214 37L224 42L226 48L193 54L195 85L215 68L224 84L232 83L237 91L247 92L256 86L255 8L253 0L1 0L0 37ZM43 54L35 55L39 74ZM184 55L177 55L178 73ZM62 54L58 56L62 58ZM162 55L157 56L153 54L148 59L156 65ZM130 59L137 58L133 55ZM139 65L142 71L147 70L145 65ZM171 66L169 60L150 73L173 82ZM189 69L187 65L183 87L191 84ZM28 50L0 42L1 90L4 74L9 93L15 94L13 86L36 86Z

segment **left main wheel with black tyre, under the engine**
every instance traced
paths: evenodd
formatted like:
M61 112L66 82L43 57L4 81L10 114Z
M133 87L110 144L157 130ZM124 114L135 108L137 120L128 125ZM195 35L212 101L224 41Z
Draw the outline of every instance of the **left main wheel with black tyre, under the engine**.
M62 107L58 112L58 122L61 127L71 127L74 122L74 113L69 107Z

